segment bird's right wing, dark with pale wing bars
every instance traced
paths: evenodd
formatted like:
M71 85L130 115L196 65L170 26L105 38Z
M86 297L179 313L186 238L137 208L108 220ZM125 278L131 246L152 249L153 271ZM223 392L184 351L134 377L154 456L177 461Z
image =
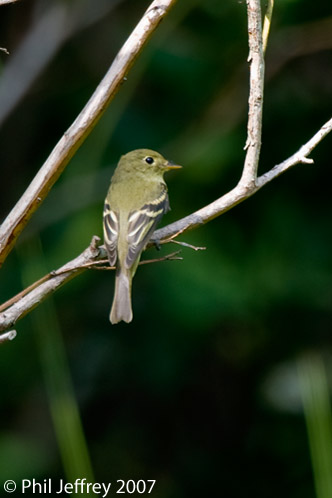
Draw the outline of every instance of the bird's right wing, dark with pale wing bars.
M167 187L163 188L158 199L144 204L139 210L132 211L128 216L128 252L125 266L131 268L162 216L169 210Z

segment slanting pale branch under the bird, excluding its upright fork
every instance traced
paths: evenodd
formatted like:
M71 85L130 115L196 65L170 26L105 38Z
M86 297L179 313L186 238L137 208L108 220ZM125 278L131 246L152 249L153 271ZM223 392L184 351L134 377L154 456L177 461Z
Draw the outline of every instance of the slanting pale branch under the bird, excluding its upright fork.
M270 171L264 173L256 180L256 185L248 188L243 188L239 183L233 190L227 194L220 197L216 201L212 202L208 206L196 211L181 220L176 221L164 228L156 230L153 234L151 242L152 245L156 242L176 242L174 237L179 235L179 233L192 230L200 225L203 225L212 219L220 216L224 212L228 211L232 207L236 206L240 202L244 201L248 197L251 197L256 193L261 187L266 185L268 182L284 173L292 166L299 163L312 163L312 159L308 158L308 155L312 150L319 144L321 140L328 133L332 131L332 118L325 123L324 126L305 144L303 145L295 154L290 158L286 159L282 163L274 166ZM50 294L56 291L59 287L67 283L69 280L88 268L95 267L98 263L104 263L104 258L106 251L104 246L99 245L99 237L93 237L91 244L85 251L82 252L75 259L67 263L66 265L59 268L57 271L51 272L45 275L43 278L29 286L24 291L20 292L17 296L7 301L4 305L0 307L0 331L5 331L11 328L19 319L23 318L27 313L29 313L33 308L38 306L44 299L46 299ZM195 250L204 249L202 247L194 247L190 244L181 243L181 245L189 246ZM162 261L167 259L178 259L176 253L167 255L159 260ZM151 261L148 261L149 263ZM144 261L141 264L145 264ZM7 340L7 336L0 336L0 343L2 337L5 337L3 341ZM7 337L7 339L6 339Z

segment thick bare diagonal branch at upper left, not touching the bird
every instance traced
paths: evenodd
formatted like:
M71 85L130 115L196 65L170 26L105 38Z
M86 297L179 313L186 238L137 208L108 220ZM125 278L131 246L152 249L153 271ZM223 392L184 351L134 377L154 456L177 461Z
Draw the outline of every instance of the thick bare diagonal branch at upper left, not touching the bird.
M129 69L176 0L154 0L131 33L94 94L65 132L21 199L0 227L0 266L69 160L116 95Z

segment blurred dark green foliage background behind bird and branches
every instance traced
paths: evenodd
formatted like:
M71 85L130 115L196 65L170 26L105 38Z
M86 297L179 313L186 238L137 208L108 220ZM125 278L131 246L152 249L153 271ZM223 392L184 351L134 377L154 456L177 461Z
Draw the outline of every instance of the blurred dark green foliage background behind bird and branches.
M1 220L148 5L1 7ZM242 1L177 3L7 259L1 302L101 236L110 177L131 149L184 166L168 175L164 224L235 186L246 22ZM276 2L266 59L260 173L331 117L330 0ZM179 238L206 251L139 268L130 325L110 325L114 275L93 270L17 324L0 348L1 482L87 477L115 494L118 479L155 479L158 498L331 496L331 145L328 136L314 165Z

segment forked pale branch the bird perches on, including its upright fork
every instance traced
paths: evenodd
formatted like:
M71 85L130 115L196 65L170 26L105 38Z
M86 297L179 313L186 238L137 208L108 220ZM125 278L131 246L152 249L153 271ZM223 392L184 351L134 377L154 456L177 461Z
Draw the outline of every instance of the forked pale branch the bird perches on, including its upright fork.
M255 11L256 16L260 16L260 11L258 8L259 2L257 0L248 0L248 9L251 4L255 4L257 9ZM251 15L253 15L253 11L251 11ZM249 16L249 14L248 14ZM256 19L257 20L257 19ZM257 27L257 23L254 23ZM258 26L258 31L255 31L255 36L259 36L260 43L260 27ZM254 36L254 35L253 35ZM254 74L257 74L257 63L260 61L261 50L255 52L255 58L257 59L255 64L251 64L250 70L253 71ZM253 59L252 59L253 60ZM260 69L262 69L260 67ZM262 76L262 73L260 73ZM256 193L260 188L266 185L271 180L275 179L280 174L284 173L292 166L302 163L302 164L311 164L313 160L309 158L309 154L314 150L314 148L332 131L332 118L327 121L320 130L310 139L307 143L305 143L295 154L291 157L283 161L282 163L274 166L267 173L256 178L257 171L257 154L259 154L260 149L260 130L261 130L261 117L262 117L262 109L261 102L258 98L258 101L255 100L257 95L259 95L258 90L261 88L261 84L256 85L255 78L251 77L251 87L250 87L250 97L249 99L249 111L250 112L258 112L260 118L251 120L248 122L248 138L251 137L259 137L259 141L249 143L249 148L246 155L246 161L244 169L247 166L246 175L242 175L239 183L236 187L234 187L230 192L223 195L216 201L212 202L208 206L203 207L202 209L196 211L181 220L176 221L164 228L156 230L153 234L153 237L150 241L149 245L163 242L176 242L174 241L174 237L187 230L191 230L197 228L200 225L203 225L212 219L220 216L224 212L228 211L232 207L236 206L240 202L245 199L251 197L254 193ZM249 123L253 128L249 127ZM256 127L256 128L255 128ZM250 150L250 152L249 152ZM249 159L248 159L249 156ZM257 164L256 164L257 161ZM253 175L250 177L250 174ZM244 179L245 177L245 180ZM253 181L253 178L255 181ZM250 181L247 181L247 180ZM65 284L67 281L79 275L83 271L88 268L95 266L97 263L103 263L103 258L105 258L106 252L103 246L99 246L100 239L98 237L94 237L90 246L83 251L82 254L77 256L74 260L70 261L63 267L61 267L56 272L52 272L38 282L35 282L32 286L28 287L22 293L15 296L10 301L7 301L5 305L0 307L0 311L4 309L2 313L0 313L0 331L5 331L11 328L14 323L25 316L29 311L31 311L34 307L36 307L42 300L44 300L48 295L57 290L61 285ZM181 243L181 245L192 247L196 250L203 249L199 247L193 247L186 243ZM178 259L176 253L168 255L160 260L165 259ZM155 260L154 260L155 261ZM156 260L159 261L159 260ZM150 262L150 261L148 261ZM142 262L144 264L144 262ZM10 334L14 332L7 332L6 334L0 335L0 342L4 342L10 338ZM9 335L8 335L9 334Z

